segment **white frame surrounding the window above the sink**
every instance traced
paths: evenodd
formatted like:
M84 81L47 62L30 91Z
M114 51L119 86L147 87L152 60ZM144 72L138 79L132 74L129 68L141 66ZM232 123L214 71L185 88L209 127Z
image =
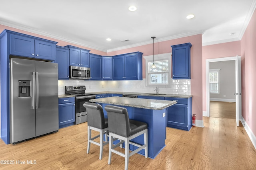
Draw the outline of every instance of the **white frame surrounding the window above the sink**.
M152 62L153 61L153 55L149 55L149 56L143 56L143 58L145 59L145 76L146 76L146 87L171 87L171 55L172 53L164 53L164 54L158 54L158 55L154 55L154 62L156 61L162 61L162 60L168 60L168 84L150 84L149 80L148 80L148 62Z

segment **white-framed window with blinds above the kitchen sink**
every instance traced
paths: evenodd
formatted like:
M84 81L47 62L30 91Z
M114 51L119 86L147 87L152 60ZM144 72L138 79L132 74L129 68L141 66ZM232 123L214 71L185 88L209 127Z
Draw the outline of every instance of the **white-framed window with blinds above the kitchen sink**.
M146 86L170 86L171 53L154 55L156 68L152 68L153 56L146 56Z

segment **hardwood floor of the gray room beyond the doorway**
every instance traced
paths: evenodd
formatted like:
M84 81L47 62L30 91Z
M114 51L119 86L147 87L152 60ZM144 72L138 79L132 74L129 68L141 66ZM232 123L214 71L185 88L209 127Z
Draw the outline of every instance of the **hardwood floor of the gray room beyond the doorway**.
M210 101L210 117L236 119L236 103Z

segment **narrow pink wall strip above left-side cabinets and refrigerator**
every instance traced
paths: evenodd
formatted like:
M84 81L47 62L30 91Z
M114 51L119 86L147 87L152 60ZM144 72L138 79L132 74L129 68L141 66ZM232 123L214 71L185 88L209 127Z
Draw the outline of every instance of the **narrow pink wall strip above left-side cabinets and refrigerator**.
M46 37L44 35L39 35L39 34L31 33L31 32L28 32L28 31L23 31L21 29L16 29L16 28L13 28L13 27L8 27L8 26L0 24L0 33L4 29L8 29L10 31L16 31L16 32L19 32L19 33L24 33L24 34L27 34L27 35L32 35L32 36L35 36L35 37L40 37L40 38L44 38L44 39L48 39L48 40L52 40L52 41L56 41L56 42L58 42L57 45L59 45L59 46L73 45L73 46L80 47L80 48L83 48L83 49L91 50L90 53L94 53L94 54L98 54L98 55L107 55L107 53L103 52L103 51L91 49L91 48L84 47L84 46L81 46L81 45L76 45L76 44L73 44L73 43L68 43L66 41L61 41L61 40L58 40L58 39Z

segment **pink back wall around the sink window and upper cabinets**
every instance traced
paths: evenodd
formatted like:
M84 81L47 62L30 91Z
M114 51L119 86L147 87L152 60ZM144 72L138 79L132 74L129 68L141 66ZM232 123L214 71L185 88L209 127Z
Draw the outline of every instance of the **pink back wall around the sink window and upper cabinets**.
M182 43L191 43L191 94L192 100L192 113L196 114L198 120L202 120L202 35L193 35L189 37L183 37L179 39L173 39L168 41L162 41L154 44L154 53L163 54L171 53L171 45L177 45ZM129 49L123 49L119 51L109 52L108 55L119 55L124 53L132 53L140 51L143 56L153 55L153 45L142 45L139 47L133 47ZM145 60L142 61L143 78L145 78Z

